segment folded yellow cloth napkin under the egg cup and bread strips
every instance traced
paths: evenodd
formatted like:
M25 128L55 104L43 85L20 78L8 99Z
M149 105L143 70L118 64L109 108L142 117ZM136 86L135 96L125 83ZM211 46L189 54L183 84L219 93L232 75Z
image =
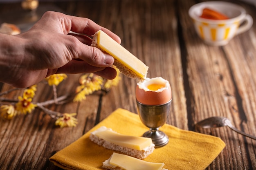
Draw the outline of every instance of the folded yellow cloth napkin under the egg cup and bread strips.
M142 136L148 130L137 114L119 108L81 138L53 155L50 161L66 170L104 170L102 162L114 151L98 146L89 139L90 132L101 126L134 136ZM218 137L181 130L168 124L160 130L168 135L169 143L155 149L144 161L164 162L164 168L168 170L204 170L225 147Z

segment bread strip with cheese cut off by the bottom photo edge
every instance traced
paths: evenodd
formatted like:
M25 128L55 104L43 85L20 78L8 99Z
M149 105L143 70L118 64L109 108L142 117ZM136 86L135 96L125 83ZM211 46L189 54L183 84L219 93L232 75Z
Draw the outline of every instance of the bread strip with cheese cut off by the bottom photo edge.
M108 170L168 170L163 168L164 163L147 162L115 152L102 164Z

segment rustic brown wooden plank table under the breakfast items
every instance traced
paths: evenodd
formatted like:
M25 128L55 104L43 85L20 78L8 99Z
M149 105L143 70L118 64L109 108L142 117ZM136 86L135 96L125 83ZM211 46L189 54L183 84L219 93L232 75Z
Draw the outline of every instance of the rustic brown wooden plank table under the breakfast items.
M256 21L256 9L239 0ZM148 77L171 83L173 102L168 124L195 130L196 122L212 116L228 117L239 130L256 136L256 24L226 46L208 46L198 38L188 10L201 0L84 0L41 2L94 22L120 36L122 45L149 66ZM0 3L0 14L21 10L20 3ZM2 18L3 19L3 18ZM80 75L68 75L57 88L72 93ZM47 108L78 113L75 128L58 128L39 109L0 119L1 170L57 170L49 161L58 150L76 141L117 108L137 113L136 81L122 76L106 95L93 94L83 102ZM1 84L1 92L12 89ZM21 91L2 95L16 99ZM53 98L52 87L40 83L35 102ZM220 137L226 147L207 170L256 170L256 141L227 127L200 131Z

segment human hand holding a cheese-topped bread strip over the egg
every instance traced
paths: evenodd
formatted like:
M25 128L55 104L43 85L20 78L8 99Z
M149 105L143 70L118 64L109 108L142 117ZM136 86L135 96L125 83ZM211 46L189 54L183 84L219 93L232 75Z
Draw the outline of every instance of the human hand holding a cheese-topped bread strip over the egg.
M54 73L92 72L115 78L116 71L110 67L113 57L90 46L89 36L100 29L121 42L117 35L92 20L46 12L29 31L12 37L17 42L13 44L17 57L10 62L7 80L0 80L12 86L27 87Z

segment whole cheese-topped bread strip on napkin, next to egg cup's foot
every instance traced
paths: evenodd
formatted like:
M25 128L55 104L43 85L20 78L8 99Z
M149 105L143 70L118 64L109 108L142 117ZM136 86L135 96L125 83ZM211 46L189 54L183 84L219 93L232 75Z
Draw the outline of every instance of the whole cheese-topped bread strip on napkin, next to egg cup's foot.
M91 132L89 138L104 148L116 150L138 159L145 159L155 149L151 138L123 135L105 126Z

